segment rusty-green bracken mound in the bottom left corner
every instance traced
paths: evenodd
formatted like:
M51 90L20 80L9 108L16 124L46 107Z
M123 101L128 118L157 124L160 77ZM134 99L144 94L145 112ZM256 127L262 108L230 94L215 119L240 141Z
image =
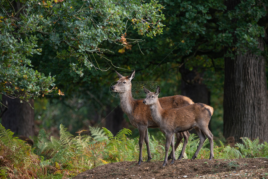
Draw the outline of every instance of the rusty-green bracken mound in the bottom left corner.
M40 157L25 141L12 137L0 124L0 178L37 178L46 172L39 165Z

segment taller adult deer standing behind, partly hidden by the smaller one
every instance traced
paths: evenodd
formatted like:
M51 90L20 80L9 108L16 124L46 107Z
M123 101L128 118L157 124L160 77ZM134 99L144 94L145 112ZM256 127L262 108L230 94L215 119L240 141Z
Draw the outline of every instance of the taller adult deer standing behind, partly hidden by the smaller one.
M138 128L140 138L139 138L139 147L140 147L140 154L139 154L139 161L138 164L140 165L142 162L142 146L143 141L145 141L147 146L147 154L148 154L148 162L151 160L151 151L149 147L149 137L148 137L148 130L147 128L159 128L159 126L153 121L151 114L147 111L150 110L148 106L142 104L143 99L133 99L131 93L131 80L134 78L135 70L128 76L123 76L119 74L117 71L117 76L119 80L117 84L112 86L112 91L119 93L120 95L120 104L122 110L127 114L130 123L132 126ZM189 104L193 104L194 102L189 99L188 97L175 95L175 96L168 96L159 98L160 104L164 108L180 108L187 106ZM185 131L183 133L176 133L176 144L175 149L178 147L181 139L184 137L183 148L181 150L179 158L183 157L188 138L189 132ZM173 137L174 140L174 137ZM171 153L169 159L171 158Z

